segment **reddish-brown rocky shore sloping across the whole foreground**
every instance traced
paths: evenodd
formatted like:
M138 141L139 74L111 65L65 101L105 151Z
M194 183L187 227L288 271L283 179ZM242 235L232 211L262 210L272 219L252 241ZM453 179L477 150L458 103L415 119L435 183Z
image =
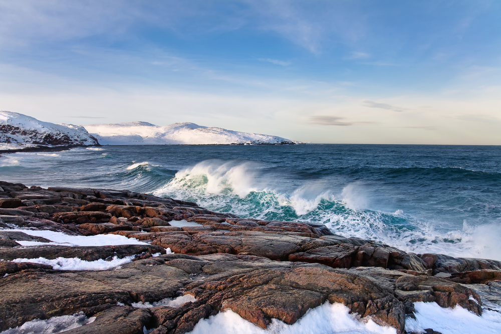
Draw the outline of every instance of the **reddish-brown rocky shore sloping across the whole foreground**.
M404 333L417 301L477 315L501 305L501 261L406 253L324 225L243 219L127 190L0 187L0 331L78 313L94 321L68 333L182 334L227 309L266 328L328 301ZM32 231L136 243L65 245ZM61 258L124 264L42 263Z

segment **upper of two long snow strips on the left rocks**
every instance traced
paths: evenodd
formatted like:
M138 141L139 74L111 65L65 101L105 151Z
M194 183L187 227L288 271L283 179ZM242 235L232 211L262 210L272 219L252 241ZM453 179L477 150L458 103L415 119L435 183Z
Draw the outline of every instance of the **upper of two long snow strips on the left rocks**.
M53 242L37 241L16 241L23 246L31 245L50 245L57 244L63 246L116 246L116 245L147 245L148 243L134 238L127 238L116 234L98 234L98 235L69 235L63 232L48 230L28 230L28 229L9 229L9 231L23 232L33 236L41 236Z

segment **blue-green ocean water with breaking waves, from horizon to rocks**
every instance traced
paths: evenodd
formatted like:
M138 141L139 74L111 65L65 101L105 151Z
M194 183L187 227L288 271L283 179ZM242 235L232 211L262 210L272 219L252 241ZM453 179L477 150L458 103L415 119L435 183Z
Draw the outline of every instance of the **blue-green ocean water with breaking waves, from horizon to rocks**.
M4 155L0 179L129 189L320 222L405 251L501 260L501 146L104 146Z

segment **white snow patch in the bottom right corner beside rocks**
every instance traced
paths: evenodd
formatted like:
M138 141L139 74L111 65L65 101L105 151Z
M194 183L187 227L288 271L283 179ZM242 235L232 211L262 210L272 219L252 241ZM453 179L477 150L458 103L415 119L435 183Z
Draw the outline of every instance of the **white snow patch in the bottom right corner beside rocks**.
M416 319L405 320L405 330L423 332L433 328L443 334L492 334L501 333L501 313L483 310L482 316L456 306L442 308L435 302L415 302Z

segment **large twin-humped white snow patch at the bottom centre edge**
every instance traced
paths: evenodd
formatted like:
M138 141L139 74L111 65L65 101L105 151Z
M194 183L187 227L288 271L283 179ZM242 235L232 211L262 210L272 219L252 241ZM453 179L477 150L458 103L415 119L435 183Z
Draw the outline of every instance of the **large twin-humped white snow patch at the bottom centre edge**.
M191 334L232 333L232 334L321 334L359 333L396 334L396 329L380 326L374 321L359 320L349 314L349 309L341 303L325 304L309 309L296 323L288 325L273 319L267 329L260 328L240 317L231 310L219 312L208 319L198 321Z

